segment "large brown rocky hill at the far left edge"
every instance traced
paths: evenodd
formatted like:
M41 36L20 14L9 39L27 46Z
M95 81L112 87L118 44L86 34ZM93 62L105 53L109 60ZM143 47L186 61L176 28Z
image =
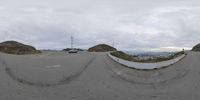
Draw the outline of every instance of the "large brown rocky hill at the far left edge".
M16 41L5 41L0 43L0 52L17 55L40 53L40 51L36 50L34 47Z

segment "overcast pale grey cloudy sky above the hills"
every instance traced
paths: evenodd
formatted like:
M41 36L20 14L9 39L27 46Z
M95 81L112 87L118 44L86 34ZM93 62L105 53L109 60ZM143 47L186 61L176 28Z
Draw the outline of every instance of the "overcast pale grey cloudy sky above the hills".
M0 41L38 49L181 50L200 43L198 0L0 0Z

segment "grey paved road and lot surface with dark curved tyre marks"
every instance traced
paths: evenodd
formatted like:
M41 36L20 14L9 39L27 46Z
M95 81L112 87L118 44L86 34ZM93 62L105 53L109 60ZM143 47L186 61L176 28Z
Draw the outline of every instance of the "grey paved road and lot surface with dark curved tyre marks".
M139 71L106 53L0 54L0 100L198 100L200 53Z

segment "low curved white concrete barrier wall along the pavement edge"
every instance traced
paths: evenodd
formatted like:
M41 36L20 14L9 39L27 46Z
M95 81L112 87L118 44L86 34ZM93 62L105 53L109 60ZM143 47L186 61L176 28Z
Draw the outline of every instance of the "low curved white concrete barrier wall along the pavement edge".
M111 55L110 53L108 54L108 56L115 62L118 62L119 64L125 65L130 68L141 69L141 70L152 70L152 69L159 69L159 68L173 65L176 62L183 59L186 56L186 54L183 54L183 55L178 56L171 60L155 62L155 63L140 63L140 62L127 61L127 60L124 60L121 58L117 58L117 57Z

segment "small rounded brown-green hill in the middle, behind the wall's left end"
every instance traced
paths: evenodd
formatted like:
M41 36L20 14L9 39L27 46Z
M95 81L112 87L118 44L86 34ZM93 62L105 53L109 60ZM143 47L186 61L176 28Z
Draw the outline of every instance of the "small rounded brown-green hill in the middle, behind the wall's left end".
M88 51L89 52L107 52L107 51L117 51L117 49L107 44L99 44L99 45L89 48Z

